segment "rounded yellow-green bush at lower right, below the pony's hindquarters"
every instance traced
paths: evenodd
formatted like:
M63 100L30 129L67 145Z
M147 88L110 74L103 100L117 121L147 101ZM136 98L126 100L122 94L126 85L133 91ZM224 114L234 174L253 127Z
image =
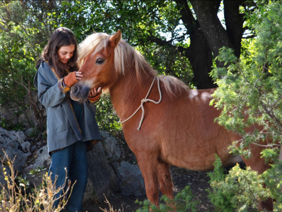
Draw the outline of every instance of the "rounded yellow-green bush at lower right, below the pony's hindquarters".
M252 171L249 167L246 170L240 169L237 164L230 170L224 181L211 181L214 191L220 191L219 195L218 193L211 194L221 200L216 209L233 211L234 207L240 212L257 211L260 201L272 197L269 189L264 187L264 183L265 179L258 172ZM228 198L230 205L224 210L220 206L223 204L224 207L228 207L227 202L223 202L225 198Z

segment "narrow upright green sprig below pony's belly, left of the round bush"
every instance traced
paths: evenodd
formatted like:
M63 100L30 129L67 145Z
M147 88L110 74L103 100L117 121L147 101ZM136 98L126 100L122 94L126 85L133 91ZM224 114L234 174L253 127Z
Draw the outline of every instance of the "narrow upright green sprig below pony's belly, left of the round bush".
M216 161L214 162L214 171L208 173L211 179L211 190L208 189L209 199L211 204L216 207L217 212L233 212L235 207L232 204L232 198L234 198L234 192L226 192L220 185L225 181L226 174L222 167L221 159L216 155Z

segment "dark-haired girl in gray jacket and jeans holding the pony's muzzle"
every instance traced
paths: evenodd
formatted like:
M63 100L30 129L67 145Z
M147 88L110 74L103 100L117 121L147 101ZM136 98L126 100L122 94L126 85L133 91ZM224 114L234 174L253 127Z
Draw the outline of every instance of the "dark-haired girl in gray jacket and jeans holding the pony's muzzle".
M47 111L47 146L52 156L49 174L56 187L68 179L73 191L67 211L82 211L82 198L87 185L87 150L101 139L95 120L94 102L101 96L101 87L89 92L89 101L80 104L69 97L71 86L82 79L77 65L77 41L65 27L56 29L40 59L34 86L38 99ZM65 170L66 168L66 170ZM54 203L57 206L59 201Z

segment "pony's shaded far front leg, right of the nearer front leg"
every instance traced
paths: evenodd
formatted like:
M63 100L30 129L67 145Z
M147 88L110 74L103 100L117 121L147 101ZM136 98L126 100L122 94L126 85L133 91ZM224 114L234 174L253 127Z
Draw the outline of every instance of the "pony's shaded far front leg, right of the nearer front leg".
M173 199L173 183L170 176L169 164L163 162L158 163L158 185L163 195Z

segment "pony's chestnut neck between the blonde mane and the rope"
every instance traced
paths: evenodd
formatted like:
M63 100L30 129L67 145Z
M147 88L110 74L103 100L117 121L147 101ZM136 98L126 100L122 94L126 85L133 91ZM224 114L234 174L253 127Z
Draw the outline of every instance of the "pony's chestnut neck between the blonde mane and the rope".
M110 89L110 96L117 115L121 120L131 116L141 104L154 80L154 76L123 76L117 85Z

